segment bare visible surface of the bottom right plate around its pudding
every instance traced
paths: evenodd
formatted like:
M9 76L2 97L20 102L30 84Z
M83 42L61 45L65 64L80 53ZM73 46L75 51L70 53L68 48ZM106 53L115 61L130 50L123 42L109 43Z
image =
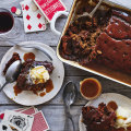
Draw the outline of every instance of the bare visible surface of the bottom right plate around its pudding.
M123 106L131 109L131 99L116 93L102 94L97 99L88 102L85 106L98 107L100 103L108 104L110 100L116 102L118 106ZM80 131L86 131L85 124L82 122L82 114L79 120L79 128L80 128Z

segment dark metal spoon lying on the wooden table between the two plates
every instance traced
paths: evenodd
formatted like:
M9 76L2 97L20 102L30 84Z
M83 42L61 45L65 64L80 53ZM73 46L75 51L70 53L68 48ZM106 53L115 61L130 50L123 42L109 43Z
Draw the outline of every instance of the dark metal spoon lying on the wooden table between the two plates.
M64 131L68 131L68 126L67 126L68 119L71 120L73 124L73 131L75 131L74 122L70 114L70 106L75 102L76 95L78 95L78 90L75 84L73 82L68 82L64 86L62 94L63 103L64 103L64 111L66 111Z

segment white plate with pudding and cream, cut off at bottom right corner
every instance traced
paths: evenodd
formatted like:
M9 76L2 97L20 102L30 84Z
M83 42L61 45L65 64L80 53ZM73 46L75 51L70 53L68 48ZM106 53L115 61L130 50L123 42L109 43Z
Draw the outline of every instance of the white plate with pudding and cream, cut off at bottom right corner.
M80 131L131 131L131 99L120 94L102 94L82 108Z

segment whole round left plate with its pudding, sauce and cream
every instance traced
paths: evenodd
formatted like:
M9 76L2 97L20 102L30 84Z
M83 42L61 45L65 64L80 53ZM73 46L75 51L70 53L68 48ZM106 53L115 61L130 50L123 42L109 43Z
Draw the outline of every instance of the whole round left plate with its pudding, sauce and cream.
M15 60L22 61L20 75L14 83L8 84L3 92L12 100L22 105L39 105L53 98L61 88L64 69L56 52L49 46L36 41L22 45L38 45L52 58L52 61L34 48L14 46L3 56L0 64L0 84L3 85L4 74Z

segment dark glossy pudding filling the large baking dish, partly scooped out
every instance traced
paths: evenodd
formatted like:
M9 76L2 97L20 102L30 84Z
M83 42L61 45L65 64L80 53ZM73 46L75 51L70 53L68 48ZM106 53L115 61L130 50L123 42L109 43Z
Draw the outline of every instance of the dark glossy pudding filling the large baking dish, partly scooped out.
M91 12L95 2L82 0L75 17ZM92 20L75 17L61 38L60 56L131 84L131 78L127 79L131 74L131 12L103 3Z

